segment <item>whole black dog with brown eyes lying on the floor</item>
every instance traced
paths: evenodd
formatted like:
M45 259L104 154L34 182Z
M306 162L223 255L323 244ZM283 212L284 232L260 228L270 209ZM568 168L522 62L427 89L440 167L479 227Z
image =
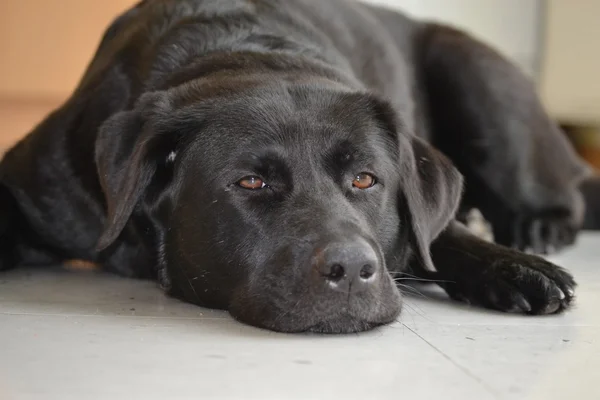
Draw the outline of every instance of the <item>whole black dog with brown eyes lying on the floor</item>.
M344 0L145 0L5 155L0 268L90 260L288 332L395 320L402 273L548 314L572 277L508 246L572 243L586 174L528 79L457 30ZM507 247L456 222L471 208Z

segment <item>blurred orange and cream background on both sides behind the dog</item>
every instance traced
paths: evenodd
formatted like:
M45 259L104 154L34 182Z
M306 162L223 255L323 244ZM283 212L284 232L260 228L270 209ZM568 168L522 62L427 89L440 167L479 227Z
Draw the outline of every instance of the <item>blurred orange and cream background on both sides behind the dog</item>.
M599 0L368 0L465 29L517 63L600 167ZM104 29L137 0L0 1L0 152L77 85Z

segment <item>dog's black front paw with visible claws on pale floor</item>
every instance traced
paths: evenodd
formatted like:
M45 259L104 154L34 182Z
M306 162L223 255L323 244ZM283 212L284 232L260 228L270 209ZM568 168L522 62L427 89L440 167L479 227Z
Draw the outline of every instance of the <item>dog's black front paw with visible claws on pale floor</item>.
M456 300L533 315L565 310L573 301L575 287L573 277L563 268L517 252L444 285Z

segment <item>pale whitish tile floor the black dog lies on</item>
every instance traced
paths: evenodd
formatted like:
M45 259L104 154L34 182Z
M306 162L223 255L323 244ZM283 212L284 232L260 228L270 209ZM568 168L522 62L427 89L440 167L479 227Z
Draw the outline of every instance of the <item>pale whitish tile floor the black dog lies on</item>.
M360 335L282 335L94 272L0 274L0 399L600 399L600 234L553 258L565 315L411 297Z

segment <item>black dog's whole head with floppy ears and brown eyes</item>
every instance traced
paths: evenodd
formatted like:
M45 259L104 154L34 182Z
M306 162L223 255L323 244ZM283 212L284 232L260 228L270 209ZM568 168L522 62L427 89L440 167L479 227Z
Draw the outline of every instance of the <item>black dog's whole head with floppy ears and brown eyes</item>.
M395 320L389 271L433 269L429 245L461 190L390 105L323 82L147 94L104 124L96 154L101 248L143 221L172 293L287 332Z

